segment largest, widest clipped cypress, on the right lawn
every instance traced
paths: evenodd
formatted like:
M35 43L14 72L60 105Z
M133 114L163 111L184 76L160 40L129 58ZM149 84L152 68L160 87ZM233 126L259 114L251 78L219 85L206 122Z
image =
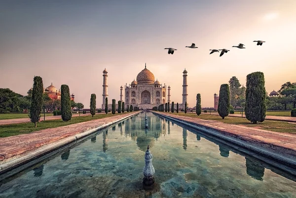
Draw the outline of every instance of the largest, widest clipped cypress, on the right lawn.
M253 124L265 120L266 91L264 84L262 72L258 71L247 75L245 115Z

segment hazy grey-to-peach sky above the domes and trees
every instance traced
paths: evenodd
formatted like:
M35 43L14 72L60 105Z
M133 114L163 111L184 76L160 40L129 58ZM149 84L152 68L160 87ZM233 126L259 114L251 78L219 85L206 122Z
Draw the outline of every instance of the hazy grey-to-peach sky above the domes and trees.
M221 84L236 76L245 85L256 71L270 93L296 82L295 10L296 0L2 0L0 88L26 95L36 75L44 88L67 84L84 108L94 93L101 107L105 68L117 101L146 63L175 103L186 68L189 107L198 93L202 107L214 107ZM246 49L232 47L239 43Z

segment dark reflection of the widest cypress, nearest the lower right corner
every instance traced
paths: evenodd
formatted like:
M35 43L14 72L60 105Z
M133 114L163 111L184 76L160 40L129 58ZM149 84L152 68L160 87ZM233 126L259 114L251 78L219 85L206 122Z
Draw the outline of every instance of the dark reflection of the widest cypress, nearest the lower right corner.
M261 163L253 158L245 157L247 174L252 178L263 181L264 176L264 166Z

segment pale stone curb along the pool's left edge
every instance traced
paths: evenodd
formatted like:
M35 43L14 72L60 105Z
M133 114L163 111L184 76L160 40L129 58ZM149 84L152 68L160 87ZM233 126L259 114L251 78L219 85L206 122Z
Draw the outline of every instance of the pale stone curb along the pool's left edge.
M113 122L110 122L108 124L105 124L105 125L101 125L99 127L96 127L96 128L93 128L93 129L90 129L90 130L87 130L85 132L80 132L80 133L77 133L73 136L70 136L70 137L66 137L65 139L61 139L61 140L58 140L57 142L53 142L53 143L49 143L49 144L46 144L46 145L43 145L39 148L37 148L35 151L29 151L28 153L26 153L24 156L21 156L21 157L17 157L16 158L14 157L13 159L7 159L7 161L3 161L0 163L0 174L4 173L4 172L7 172L19 165L23 165L23 164L26 164L28 163L29 161L31 160L34 160L44 154L47 154L49 152L52 152L58 148L61 148L67 144L70 144L72 142L75 142L77 141L78 139L81 139L83 137L86 137L87 135L90 135L98 130L102 130L104 128L107 128L117 122L120 122L122 120L125 120L129 117L132 117L134 115L137 115L139 114L141 111L138 111L136 113L133 113L133 114L130 114L128 116L125 116L123 118L120 118L116 121L113 121Z

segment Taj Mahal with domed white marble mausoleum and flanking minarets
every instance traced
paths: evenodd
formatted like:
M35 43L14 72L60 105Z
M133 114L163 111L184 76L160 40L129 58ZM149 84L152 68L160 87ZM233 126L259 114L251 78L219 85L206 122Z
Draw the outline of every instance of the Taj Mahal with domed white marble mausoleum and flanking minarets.
M105 101L108 98L108 72L106 68L103 71L103 102L102 109L105 109ZM185 107L187 101L187 71L183 71L183 94L182 103L179 103L179 108ZM152 109L154 106L171 102L170 100L171 87L166 84L161 84L151 71L146 67L137 75L137 81L134 79L131 84L125 84L124 96L123 87L120 87L120 101L124 101L125 105L137 106L140 109ZM175 101L175 108L178 101ZM116 102L116 109L118 108ZM188 106L188 104L187 104ZM111 109L111 99L108 99L108 109Z

